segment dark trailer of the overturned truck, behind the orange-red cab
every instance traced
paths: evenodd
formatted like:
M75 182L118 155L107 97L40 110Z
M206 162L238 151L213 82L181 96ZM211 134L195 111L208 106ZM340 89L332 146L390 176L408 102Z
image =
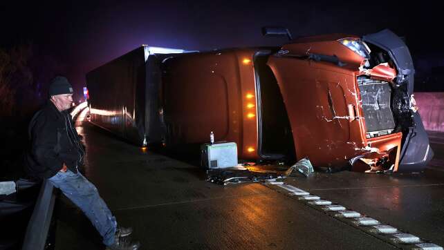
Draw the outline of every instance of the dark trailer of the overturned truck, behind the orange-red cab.
M91 122L140 146L161 141L158 52L183 50L141 46L86 74Z

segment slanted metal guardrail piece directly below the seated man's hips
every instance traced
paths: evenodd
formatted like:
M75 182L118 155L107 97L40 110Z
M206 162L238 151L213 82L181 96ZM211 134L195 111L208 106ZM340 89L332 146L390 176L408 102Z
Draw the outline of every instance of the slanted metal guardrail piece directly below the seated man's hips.
M26 235L22 250L43 250L48 237L49 225L53 217L55 195L53 184L44 180L37 202L35 203L33 215L28 222Z

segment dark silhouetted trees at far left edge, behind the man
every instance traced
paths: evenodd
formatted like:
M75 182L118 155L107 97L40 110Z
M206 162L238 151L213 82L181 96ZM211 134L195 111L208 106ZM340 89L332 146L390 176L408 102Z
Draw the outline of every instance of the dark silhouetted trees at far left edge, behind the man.
M21 176L26 127L39 99L28 66L32 46L0 48L0 179Z

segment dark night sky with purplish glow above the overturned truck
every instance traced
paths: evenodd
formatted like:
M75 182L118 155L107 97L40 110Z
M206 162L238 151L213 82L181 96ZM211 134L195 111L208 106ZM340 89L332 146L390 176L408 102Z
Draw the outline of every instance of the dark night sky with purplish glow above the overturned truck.
M426 1L3 2L0 45L33 44L35 59L52 61L79 92L85 73L140 44L208 50L286 42L261 37L262 26L285 26L293 37L389 28L407 39L417 70L444 66L444 8Z

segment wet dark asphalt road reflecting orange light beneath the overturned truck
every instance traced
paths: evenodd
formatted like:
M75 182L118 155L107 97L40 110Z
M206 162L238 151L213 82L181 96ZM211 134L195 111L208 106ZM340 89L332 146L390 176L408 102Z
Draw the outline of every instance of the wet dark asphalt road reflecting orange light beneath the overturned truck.
M87 147L86 177L118 222L133 227L142 249L395 248L276 186L212 184L198 166L142 152L89 122L76 126ZM435 155L442 155L436 151L441 146L432 144ZM444 178L436 176L344 171L287 181L443 246ZM56 249L104 249L100 235L66 199L57 202L55 215Z

